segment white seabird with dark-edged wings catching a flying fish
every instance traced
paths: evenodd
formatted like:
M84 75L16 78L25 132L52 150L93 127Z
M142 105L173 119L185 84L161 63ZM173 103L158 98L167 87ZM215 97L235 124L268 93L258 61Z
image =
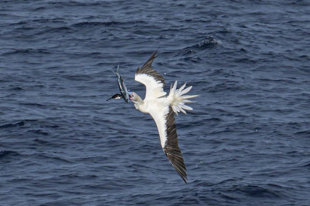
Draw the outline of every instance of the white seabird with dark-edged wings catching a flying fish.
M172 166L186 183L186 167L178 146L174 113L178 116L180 111L186 114L184 109L192 110L193 108L186 106L185 103L191 103L192 101L188 99L199 95L184 95L191 90L192 86L184 89L185 83L179 89L176 89L177 81L175 81L173 87L170 87L169 95L166 96L166 92L163 90L165 80L162 75L152 68L152 63L157 57L156 54L157 50L141 69L138 67L135 74L135 81L146 86L144 100L135 92L129 93L129 99L135 103L136 109L149 113L153 117L158 128L162 149Z

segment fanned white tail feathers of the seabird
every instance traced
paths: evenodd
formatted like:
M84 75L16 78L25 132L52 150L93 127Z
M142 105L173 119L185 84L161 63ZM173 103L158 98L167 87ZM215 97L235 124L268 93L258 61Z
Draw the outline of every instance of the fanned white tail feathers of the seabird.
M179 89L176 89L177 83L178 83L178 81L175 81L175 84L173 85L173 87L171 84L168 99L169 99L169 102L170 102L170 105L171 105L173 111L178 116L178 112L180 112L180 111L182 111L184 114L186 114L186 111L184 109L193 110L192 107L186 106L185 103L191 103L192 101L190 101L188 99L197 97L199 95L184 95L189 90L191 90L193 86L190 86L190 87L187 87L186 89L184 89L186 86L186 83L185 83ZM184 96L182 96L182 95L184 95Z

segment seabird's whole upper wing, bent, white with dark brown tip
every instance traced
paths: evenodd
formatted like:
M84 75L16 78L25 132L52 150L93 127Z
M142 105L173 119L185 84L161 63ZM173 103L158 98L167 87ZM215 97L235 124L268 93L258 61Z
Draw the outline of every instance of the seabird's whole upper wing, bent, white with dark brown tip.
M138 67L135 74L135 81L141 82L146 86L145 99L159 98L166 95L166 92L163 90L165 86L164 78L152 68L152 63L157 57L156 54L157 50L145 62L141 69Z

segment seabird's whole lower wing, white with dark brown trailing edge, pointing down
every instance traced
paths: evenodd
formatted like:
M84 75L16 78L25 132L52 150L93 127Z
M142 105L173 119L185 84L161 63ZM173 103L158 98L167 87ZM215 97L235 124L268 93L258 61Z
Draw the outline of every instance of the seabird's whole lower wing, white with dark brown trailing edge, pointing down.
M178 136L175 127L175 118L171 106L157 106L149 112L158 128L162 149L167 158L186 183L187 174L184 159L178 146Z

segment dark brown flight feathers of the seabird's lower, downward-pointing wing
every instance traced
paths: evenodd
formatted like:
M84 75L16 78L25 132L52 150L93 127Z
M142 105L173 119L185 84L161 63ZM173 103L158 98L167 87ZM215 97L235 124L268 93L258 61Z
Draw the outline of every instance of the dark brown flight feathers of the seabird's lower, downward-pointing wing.
M163 150L167 158L171 162L172 166L174 166L175 170L179 173L184 182L187 183L187 174L185 172L186 167L181 154L181 150L178 145L178 136L176 133L174 112L171 106L169 106L169 112L166 115L166 133L167 139Z

